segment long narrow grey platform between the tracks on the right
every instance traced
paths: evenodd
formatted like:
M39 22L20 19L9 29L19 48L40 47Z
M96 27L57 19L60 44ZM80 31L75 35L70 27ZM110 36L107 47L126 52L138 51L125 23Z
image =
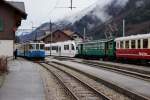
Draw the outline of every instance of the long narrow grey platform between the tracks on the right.
M56 60L55 60L56 61ZM150 98L150 82L71 61L57 61Z

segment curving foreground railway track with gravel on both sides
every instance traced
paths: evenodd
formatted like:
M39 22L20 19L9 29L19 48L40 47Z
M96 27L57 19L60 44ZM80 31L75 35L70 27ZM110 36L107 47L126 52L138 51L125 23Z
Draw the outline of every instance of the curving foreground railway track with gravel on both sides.
M46 68L59 80L59 82L65 87L65 91L72 96L72 100L111 100L88 83L85 83L78 77L55 65L49 65L47 63L40 63L40 65Z

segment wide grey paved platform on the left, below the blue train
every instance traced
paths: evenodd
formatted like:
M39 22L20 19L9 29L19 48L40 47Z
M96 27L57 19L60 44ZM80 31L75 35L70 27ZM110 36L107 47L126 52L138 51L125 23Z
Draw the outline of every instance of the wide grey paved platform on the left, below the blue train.
M9 61L9 74L0 88L0 100L45 100L43 82L34 63Z

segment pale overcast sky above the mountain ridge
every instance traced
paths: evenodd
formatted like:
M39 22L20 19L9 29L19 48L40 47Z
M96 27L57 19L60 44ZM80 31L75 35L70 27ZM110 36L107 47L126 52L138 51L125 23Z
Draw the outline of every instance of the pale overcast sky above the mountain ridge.
M7 0L7 1L23 1L25 2L26 12L28 14L27 20L22 21L21 29L31 29L32 23L34 27L38 27L50 19L54 22L75 14L86 7L92 5L97 0L73 0L73 6L76 8L71 10L70 0ZM103 0L105 1L105 0ZM62 8L60 8L62 7Z

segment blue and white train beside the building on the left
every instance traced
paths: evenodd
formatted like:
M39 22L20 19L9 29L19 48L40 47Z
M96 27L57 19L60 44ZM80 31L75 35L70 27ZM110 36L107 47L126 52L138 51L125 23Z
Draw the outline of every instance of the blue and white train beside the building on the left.
M44 43L25 43L16 46L17 56L28 59L45 59L45 44Z

